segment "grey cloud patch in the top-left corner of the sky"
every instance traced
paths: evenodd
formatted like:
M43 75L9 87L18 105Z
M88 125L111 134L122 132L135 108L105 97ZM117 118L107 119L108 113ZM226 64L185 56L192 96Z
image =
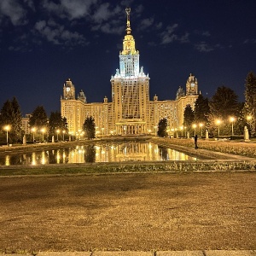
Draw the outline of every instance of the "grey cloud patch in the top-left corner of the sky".
M1 0L0 17L8 18L14 26L25 25L26 9L17 0Z

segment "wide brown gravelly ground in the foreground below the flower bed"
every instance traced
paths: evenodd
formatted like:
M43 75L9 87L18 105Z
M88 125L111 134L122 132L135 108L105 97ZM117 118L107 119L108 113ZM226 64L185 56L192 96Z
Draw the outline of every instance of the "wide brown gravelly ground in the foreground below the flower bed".
M0 177L0 252L256 248L255 172Z

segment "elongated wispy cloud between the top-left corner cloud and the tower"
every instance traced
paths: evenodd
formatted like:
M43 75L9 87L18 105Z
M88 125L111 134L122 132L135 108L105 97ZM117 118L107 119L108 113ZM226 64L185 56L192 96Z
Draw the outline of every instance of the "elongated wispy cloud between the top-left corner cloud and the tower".
M38 21L34 26L34 30L53 44L88 44L83 35L78 32L70 32L64 26L58 25L53 20L49 20L49 22L45 20Z

